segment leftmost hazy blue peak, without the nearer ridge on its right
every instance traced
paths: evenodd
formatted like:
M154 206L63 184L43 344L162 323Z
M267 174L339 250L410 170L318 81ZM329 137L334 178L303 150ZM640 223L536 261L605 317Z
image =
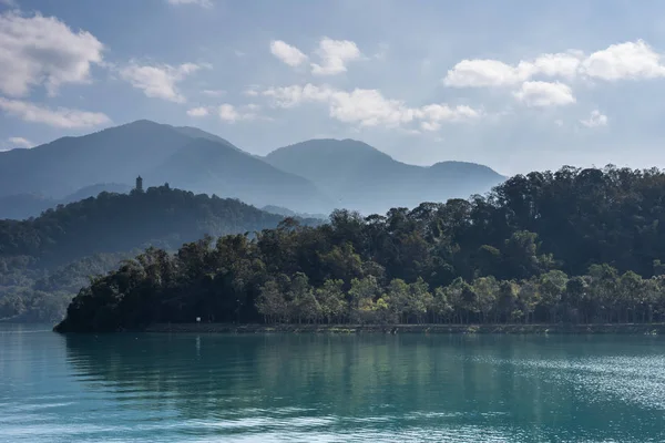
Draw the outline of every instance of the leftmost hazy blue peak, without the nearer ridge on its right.
M32 150L0 153L0 196L34 193L63 198L95 183L132 184L192 137L146 120Z

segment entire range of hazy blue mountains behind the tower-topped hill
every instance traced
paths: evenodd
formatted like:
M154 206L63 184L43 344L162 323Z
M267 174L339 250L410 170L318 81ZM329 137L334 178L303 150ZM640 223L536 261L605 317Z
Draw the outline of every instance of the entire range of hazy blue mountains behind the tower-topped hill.
M471 163L403 164L352 140L311 140L259 157L195 127L142 120L0 153L0 218L37 216L72 195L125 192L137 175L146 186L168 183L258 207L323 214L467 198L504 178Z

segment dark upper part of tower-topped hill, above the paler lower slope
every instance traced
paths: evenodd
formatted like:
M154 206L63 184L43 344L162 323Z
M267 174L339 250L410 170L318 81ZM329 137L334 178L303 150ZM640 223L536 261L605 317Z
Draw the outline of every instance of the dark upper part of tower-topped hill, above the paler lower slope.
M30 256L45 265L150 245L176 249L204 235L276 227L284 217L236 199L167 186L101 193L29 220L0 220L0 257Z

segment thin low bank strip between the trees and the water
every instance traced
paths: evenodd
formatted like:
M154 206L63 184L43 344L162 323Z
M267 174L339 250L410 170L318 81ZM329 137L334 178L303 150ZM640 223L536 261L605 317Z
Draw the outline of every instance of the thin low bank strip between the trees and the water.
M440 333L440 334L665 334L665 323L608 324L234 324L156 323L158 333Z

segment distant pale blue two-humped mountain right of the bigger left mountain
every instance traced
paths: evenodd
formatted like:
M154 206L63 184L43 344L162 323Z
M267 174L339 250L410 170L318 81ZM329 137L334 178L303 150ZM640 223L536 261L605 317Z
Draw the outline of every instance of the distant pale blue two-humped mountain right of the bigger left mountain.
M474 163L442 162L415 166L354 140L311 140L278 148L265 157L331 196L336 207L385 213L421 202L444 202L485 193L505 177Z

